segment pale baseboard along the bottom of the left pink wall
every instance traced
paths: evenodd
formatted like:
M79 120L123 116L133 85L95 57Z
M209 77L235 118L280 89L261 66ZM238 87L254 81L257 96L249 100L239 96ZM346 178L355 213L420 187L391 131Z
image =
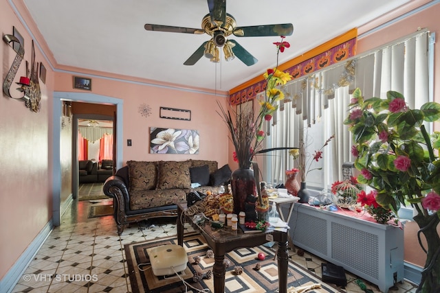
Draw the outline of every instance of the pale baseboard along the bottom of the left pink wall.
M5 277L0 280L0 293L11 292L15 285L17 285L21 275L28 268L32 259L34 259L36 253L39 251L40 247L43 245L50 232L54 228L52 224L52 219L45 224L43 229L34 238L34 241L30 243L28 248L21 254L19 259L14 263L12 268L5 274Z

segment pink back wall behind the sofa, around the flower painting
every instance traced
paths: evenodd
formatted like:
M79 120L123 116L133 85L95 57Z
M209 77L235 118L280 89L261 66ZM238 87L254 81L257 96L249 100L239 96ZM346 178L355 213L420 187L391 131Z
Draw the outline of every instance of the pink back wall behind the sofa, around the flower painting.
M225 103L225 96L214 96L195 91L179 91L172 88L131 84L120 80L92 78L92 93L124 99L123 161L158 161L186 159L210 159L219 162L219 167L228 160L228 133L221 117L217 115L217 100ZM56 73L55 91L72 91L72 75ZM78 91L80 92L80 91ZM84 92L84 91L83 91ZM142 117L139 107L147 104L151 115ZM191 110L190 121L159 118L159 107ZM199 130L199 154L150 154L150 127ZM132 146L126 140L132 140Z

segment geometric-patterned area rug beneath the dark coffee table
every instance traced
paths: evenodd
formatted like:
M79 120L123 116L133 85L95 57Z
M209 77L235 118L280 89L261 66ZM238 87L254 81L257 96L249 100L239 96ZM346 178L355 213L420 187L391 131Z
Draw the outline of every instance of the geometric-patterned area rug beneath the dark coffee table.
M209 248L205 244L203 237L198 233L185 235L184 248L188 254L188 265L186 270L179 273L181 279L175 274L165 277L156 277L151 270L151 266L148 266L148 264L142 265L142 263L149 262L146 248L166 244L177 244L177 238L168 237L155 239L150 242L125 245L132 292L186 292L185 285L181 279L186 280L192 287L198 290L208 288L210 292L214 292L212 278L202 279L199 282L193 281L192 278L196 272L203 274L212 270L212 266L214 265L214 258L206 257L206 251ZM267 256L264 261L256 259L256 255L260 252L265 253ZM201 259L198 264L195 264L195 257ZM225 259L230 261L230 266L226 268L225 292L277 292L278 267L276 265L276 259L274 260L274 250L272 250L272 248L267 248L266 246L240 248L225 255ZM255 270L256 263L261 265L260 270ZM140 268L144 271L139 270L138 264L141 264ZM234 266L241 266L243 273L239 275L234 274ZM297 266L293 261L289 260L287 288L292 289L317 283L321 285L321 288L304 292L339 292L338 289L333 288L332 285L322 283L320 277L300 268L300 266ZM188 292L197 292L197 290L188 286ZM291 291L288 290L288 292Z

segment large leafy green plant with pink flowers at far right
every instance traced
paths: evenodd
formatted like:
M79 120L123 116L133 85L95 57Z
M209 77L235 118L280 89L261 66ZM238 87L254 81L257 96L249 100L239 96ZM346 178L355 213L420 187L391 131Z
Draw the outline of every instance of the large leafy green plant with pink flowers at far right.
M395 91L388 91L384 99L364 99L356 89L349 107L344 124L353 134L358 180L377 191L382 207L397 212L409 203L417 211L413 219L426 252L417 292L440 292L440 134L428 133L424 125L440 120L440 104L428 102L412 110Z

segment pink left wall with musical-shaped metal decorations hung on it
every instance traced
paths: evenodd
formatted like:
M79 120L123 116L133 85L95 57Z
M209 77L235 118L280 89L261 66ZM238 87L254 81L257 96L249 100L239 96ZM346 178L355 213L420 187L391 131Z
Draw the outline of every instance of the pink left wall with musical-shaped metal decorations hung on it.
M0 4L0 30L12 34L15 26L25 39L25 60L31 62L32 38L7 1ZM54 74L36 49L36 61L47 67L46 84L41 86L41 111L33 113L24 103L0 97L0 278L21 256L34 237L52 218L52 91ZM0 43L0 76L5 78L15 53ZM11 86L11 94L21 97L15 82L25 75L25 60ZM2 288L3 289L3 288Z

